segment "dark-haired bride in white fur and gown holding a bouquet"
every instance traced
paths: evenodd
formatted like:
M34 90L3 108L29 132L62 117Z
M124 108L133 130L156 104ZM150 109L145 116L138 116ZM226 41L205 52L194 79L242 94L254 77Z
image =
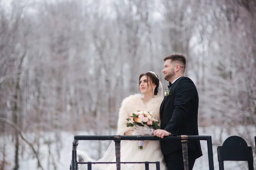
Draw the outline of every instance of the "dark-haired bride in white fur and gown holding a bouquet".
M126 119L137 111L150 111L160 122L160 105L163 101L163 85L157 74L152 71L140 74L139 89L141 94L128 96L122 101L119 110L117 135L141 135L137 128L127 127ZM143 149L138 149L139 141L121 141L121 162L160 161L160 170L166 169L166 163L160 150L160 141L144 141ZM87 153L77 150L79 161L82 162L115 162L114 142L110 144L104 156L98 161L93 160ZM87 164L79 164L79 170L86 170ZM93 170L116 170L116 164L93 164ZM149 164L150 170L155 170L155 164ZM121 170L145 170L145 164L121 164Z

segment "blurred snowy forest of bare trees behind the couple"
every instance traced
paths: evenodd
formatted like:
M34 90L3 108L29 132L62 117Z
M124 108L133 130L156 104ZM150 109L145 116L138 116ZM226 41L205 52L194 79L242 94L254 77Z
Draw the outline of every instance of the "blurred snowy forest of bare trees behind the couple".
M255 0L0 0L0 170L57 170L64 139L113 135L141 73L167 87L169 54L187 57L201 132L215 146L235 132L255 153L255 18Z

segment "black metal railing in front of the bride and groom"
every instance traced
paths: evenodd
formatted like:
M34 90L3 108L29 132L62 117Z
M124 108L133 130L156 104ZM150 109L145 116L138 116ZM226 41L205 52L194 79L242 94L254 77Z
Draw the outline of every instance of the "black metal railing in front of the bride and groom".
M209 170L214 170L213 164L213 153L212 153L212 136L187 136L188 141L190 140L206 140L207 141L207 149L208 149L208 161L209 161ZM113 140L115 142L116 149L116 162L78 162L76 157L76 148L79 140ZM148 164L156 164L157 170L160 170L159 162L121 162L120 161L120 142L121 140L180 140L182 141L182 136L165 136L163 139L157 136L74 136L73 148L72 148L72 163L71 170L77 170L78 164L87 164L88 170L91 170L91 164L116 164L116 170L120 170L120 164L137 164L143 163L145 164L145 170L148 169ZM185 168L186 169L186 168Z

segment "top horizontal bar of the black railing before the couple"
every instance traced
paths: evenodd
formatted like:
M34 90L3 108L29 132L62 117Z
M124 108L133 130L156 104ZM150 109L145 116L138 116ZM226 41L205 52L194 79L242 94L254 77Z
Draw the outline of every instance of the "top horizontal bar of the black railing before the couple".
M188 140L208 140L211 138L211 136L188 136ZM102 136L102 135L77 135L74 136L75 140L115 140L116 137L113 136ZM151 140L151 141L157 141L157 140L169 140L169 139L174 139L174 140L181 140L181 136L165 136L163 138L159 138L157 136L124 136L120 135L120 140L138 140L138 141L143 141L143 140Z

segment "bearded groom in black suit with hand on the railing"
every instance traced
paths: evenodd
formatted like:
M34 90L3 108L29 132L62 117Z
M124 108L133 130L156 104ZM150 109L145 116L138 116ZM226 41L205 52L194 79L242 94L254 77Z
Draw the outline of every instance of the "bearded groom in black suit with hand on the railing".
M155 130L154 135L198 135L198 92L192 80L184 77L186 57L174 54L163 60L162 72L169 89L160 106L161 129ZM168 170L184 170L181 141L161 141L160 146ZM189 170L200 156L200 141L188 141Z

